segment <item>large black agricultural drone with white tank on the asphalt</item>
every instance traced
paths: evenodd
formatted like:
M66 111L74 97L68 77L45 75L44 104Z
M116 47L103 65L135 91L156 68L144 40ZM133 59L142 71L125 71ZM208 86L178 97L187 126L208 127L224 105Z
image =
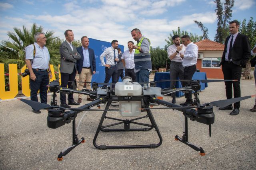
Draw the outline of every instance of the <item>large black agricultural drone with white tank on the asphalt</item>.
M166 80L164 80L166 81ZM188 80L184 80L188 81ZM93 82L92 89L93 90L75 90L62 88L60 89L59 83L57 81L51 82L48 86L50 86L51 92L54 92L51 105L42 104L39 102L34 102L30 100L20 99L22 102L25 102L29 106L31 106L35 110L40 109L48 109L48 117L47 117L47 126L52 129L56 129L65 125L66 123L71 123L72 121L72 146L68 147L68 149L60 152L58 155L58 160L62 160L66 154L68 154L72 149L76 146L80 145L80 143L84 142L84 137L78 139L78 135L76 134L76 117L77 114L82 111L103 111L102 117L100 119L100 123L96 130L93 139L94 147L104 150L104 149L125 149L125 148L156 148L162 144L162 136L154 120L152 115L151 106L163 105L166 106L164 109L176 109L181 111L184 115L184 131L182 137L178 135L175 136L176 141L181 141L182 143L188 145L192 149L199 151L200 155L205 155L204 149L202 147L198 147L188 141L188 119L192 121L197 121L198 123L203 123L209 125L209 134L211 136L211 125L214 123L214 112L213 107L224 107L228 106L232 103L239 102L241 100L245 100L251 98L253 96L245 96L241 98L232 98L228 100L219 100L215 102L200 104L198 98L198 91L200 90L200 81L201 82L217 82L217 81L232 81L232 80L189 80L191 81L191 86L186 86L179 89L164 89L155 87L156 82L150 82L150 86L144 85L143 87L137 83L132 82L130 77L124 77L122 82L117 82L115 85L115 89L111 88L100 88L98 85L100 83ZM103 83L102 83L103 84ZM111 87L111 85L110 85ZM181 107L177 104L172 104L170 102L166 102L163 100L163 94L168 94L172 92L177 92L180 90L191 89L194 91L195 99L194 106L190 107ZM65 92L65 93L80 93L89 95L90 98L94 99L93 102L80 106L78 108L64 108L59 107L56 102L56 92ZM110 105L113 102L119 102L119 109L110 109ZM91 109L93 106L98 106L106 104L105 109ZM140 116L143 108L146 111L146 115ZM162 107L163 108L163 107ZM158 109L162 109L158 108ZM69 111L65 111L69 110ZM114 117L106 116L108 111L118 111L122 117L136 117L133 119L117 119ZM137 120L149 118L150 123L140 123ZM110 125L102 125L104 119L111 119L117 121L117 123L113 123ZM114 129L109 127L114 127L116 125L123 124L124 127L121 129ZM144 128L131 128L131 124L140 125ZM119 146L108 146L108 145L98 145L96 143L96 139L100 131L109 132L109 131L150 131L152 129L156 130L156 133L159 138L158 143L149 143L143 145L119 145Z

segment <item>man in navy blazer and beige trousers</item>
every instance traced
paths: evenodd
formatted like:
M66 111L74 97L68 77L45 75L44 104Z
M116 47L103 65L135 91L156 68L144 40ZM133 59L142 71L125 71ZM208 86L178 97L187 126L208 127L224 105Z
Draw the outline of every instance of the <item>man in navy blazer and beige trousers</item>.
M79 81L78 90L82 90L84 87L84 83L81 82L91 82L92 81L92 74L96 73L96 62L95 62L95 55L93 49L88 48L89 46L89 39L87 36L83 36L81 38L82 46L77 48L78 53L80 54L81 58L77 60L77 72L79 74ZM86 83L86 89L91 89L91 84ZM92 101L92 99L87 96L87 101ZM82 94L78 94L78 103L82 102Z

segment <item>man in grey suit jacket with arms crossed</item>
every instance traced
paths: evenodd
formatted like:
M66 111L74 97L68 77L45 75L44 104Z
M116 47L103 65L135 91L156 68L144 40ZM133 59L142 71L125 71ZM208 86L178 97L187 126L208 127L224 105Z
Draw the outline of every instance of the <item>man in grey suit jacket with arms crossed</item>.
M76 60L79 60L81 56L76 51L76 47L72 45L74 41L74 33L68 29L64 33L66 41L60 45L60 78L61 87L71 88L71 84L76 77ZM73 94L68 94L69 105L80 105L76 103L73 98ZM70 108L66 104L66 94L60 93L60 106Z

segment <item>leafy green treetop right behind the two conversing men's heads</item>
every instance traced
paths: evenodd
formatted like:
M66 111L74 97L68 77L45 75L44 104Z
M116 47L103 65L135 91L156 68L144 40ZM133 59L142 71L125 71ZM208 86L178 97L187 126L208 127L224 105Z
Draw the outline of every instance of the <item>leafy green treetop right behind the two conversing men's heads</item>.
M198 41L201 41L203 39L202 36L200 35L196 35L196 34L192 34L192 33L188 33L188 31L180 31L180 27L178 27L177 31L172 30L172 33L170 33L170 36L168 37L168 39L165 39L165 41L167 42L167 45L164 46L164 49L167 50L167 48L173 44L172 42L172 36L173 35L179 35L179 37L181 38L183 35L189 35L190 39L193 43L196 43Z

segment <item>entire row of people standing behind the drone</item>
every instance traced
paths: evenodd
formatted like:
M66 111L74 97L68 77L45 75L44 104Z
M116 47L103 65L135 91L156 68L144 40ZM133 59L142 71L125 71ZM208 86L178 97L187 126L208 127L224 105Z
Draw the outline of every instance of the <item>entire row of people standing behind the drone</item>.
M249 60L250 55L256 53L256 47L250 52L250 44L248 37L238 32L239 22L234 20L230 22L229 30L231 35L226 38L225 48L222 55L220 65L224 79L238 80L233 82L225 82L226 97L232 98L232 86L234 88L234 98L241 96L240 78L242 67ZM88 48L89 39L86 36L81 38L82 46L76 48L72 45L74 41L73 31L68 29L64 33L66 40L60 45L60 77L61 87L70 88L76 74L79 74L78 90L82 90L85 80L90 82L92 75L96 73L96 62L94 50ZM111 47L108 47L100 55L102 66L105 66L105 80L108 83L112 78L112 88L118 81L119 77L123 77L123 69L125 68L125 76L130 76L133 82L149 82L149 75L152 71L152 63L150 58L150 40L144 37L137 28L131 31L132 38L137 41L134 45L133 41L128 41L128 50L122 53L118 48L118 41L113 40ZM46 37L43 33L34 35L35 43L26 47L26 64L30 72L30 90L31 100L38 102L37 93L40 90L41 103L47 103L47 87L49 78L52 78L50 70L50 55L46 45ZM173 45L168 47L168 57L170 64L170 79L175 80L177 77L185 80L192 80L194 72L196 72L196 64L198 58L198 46L194 44L188 35L181 37L174 35L172 37ZM182 41L182 44L180 43ZM104 61L106 59L106 62ZM254 71L254 77L256 72ZM171 81L171 88L175 88L175 81ZM106 85L105 85L106 86ZM189 81L182 82L182 86L190 86ZM90 83L86 83L86 89L91 89ZM192 92L185 92L186 101L181 106L191 106L193 104ZM87 98L88 101L92 99ZM68 104L66 104L66 94L60 93L60 106L70 108L69 105L80 105L82 102L82 94L78 94L78 101L75 102L73 94L68 94ZM172 103L176 103L175 94L172 94ZM220 110L232 110L230 115L239 113L240 102L232 105L221 107ZM256 111L255 106L250 111ZM40 110L34 110L34 113L41 113Z

